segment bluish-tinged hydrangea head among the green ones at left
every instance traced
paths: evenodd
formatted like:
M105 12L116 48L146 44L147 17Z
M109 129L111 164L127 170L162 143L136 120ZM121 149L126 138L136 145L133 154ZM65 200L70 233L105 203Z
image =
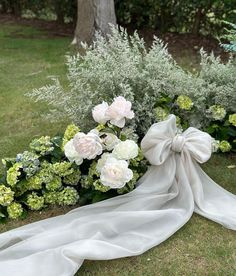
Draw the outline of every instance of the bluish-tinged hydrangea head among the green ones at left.
M16 162L22 164L22 169L27 177L33 176L39 170L40 162L38 155L33 152L24 151L17 154Z

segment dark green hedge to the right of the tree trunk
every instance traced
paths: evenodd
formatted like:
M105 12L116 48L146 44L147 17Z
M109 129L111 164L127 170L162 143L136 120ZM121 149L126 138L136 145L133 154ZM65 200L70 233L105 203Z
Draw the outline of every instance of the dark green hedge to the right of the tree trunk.
M151 27L162 32L212 34L222 20L234 20L235 0L116 0L120 24L135 28Z

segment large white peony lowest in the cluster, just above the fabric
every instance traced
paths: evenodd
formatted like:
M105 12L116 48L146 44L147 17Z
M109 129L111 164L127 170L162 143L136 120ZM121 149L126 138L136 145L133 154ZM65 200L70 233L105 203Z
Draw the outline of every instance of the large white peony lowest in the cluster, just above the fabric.
M101 169L100 180L104 186L119 189L133 178L133 172L124 160L109 157Z

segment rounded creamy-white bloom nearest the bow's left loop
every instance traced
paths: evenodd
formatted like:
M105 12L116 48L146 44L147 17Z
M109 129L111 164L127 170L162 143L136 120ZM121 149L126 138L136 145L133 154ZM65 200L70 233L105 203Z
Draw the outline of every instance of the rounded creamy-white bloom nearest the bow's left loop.
M120 142L114 147L112 155L117 159L133 159L138 156L138 145L133 140Z

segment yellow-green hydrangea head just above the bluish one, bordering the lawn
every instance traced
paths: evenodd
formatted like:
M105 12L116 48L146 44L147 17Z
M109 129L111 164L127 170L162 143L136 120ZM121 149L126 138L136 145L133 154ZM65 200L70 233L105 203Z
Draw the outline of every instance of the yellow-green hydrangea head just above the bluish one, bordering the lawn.
M42 136L39 139L34 139L30 143L30 148L40 155L47 155L54 150L53 143L49 136Z

